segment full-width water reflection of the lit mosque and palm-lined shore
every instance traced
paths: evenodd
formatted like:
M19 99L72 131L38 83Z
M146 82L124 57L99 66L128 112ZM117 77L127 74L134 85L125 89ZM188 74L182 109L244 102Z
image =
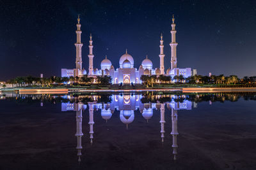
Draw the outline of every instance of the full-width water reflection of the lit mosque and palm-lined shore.
M94 111L100 111L101 117L108 122L111 119L114 112L118 112L120 121L124 124L124 129L128 129L132 122L134 122L134 111L140 111L141 116L145 118L145 121L150 123L150 118L153 117L153 111L160 112L160 133L159 139L161 143L164 142L164 125L169 124L166 122L166 116L172 117L172 154L173 159L177 159L177 137L178 132L178 110L191 110L191 108L197 108L197 104L202 101L209 101L209 104L216 101L237 101L240 97L244 100L255 100L255 94L154 94L154 93L140 93L140 94L68 94L68 95L25 95L25 94L0 94L1 100L13 100L17 102L40 102L40 106L44 106L44 102L51 102L53 104L60 102L61 111L76 111L76 138L77 138L77 157L78 161L81 161L82 155L82 119L83 111L88 109L89 112L89 134L90 143L93 143L93 113ZM165 107L168 110L165 110ZM165 115L165 112L167 113ZM168 114L172 113L172 114ZM95 136L97 138L97 136ZM86 142L87 143L87 142ZM170 146L170 147L171 147Z

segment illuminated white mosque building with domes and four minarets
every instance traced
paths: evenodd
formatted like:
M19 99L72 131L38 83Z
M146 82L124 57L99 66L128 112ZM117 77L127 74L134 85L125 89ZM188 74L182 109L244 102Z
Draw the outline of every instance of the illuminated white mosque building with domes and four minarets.
M100 69L93 67L93 41L92 41L92 34L90 35L89 40L89 68L88 68L88 76L92 76L96 78L97 76L111 76L112 83L141 83L140 77L142 75L165 75L165 76L179 76L183 75L185 78L188 76L191 76L191 68L179 68L177 67L177 45L176 42L176 30L175 30L175 18L172 18L172 30L170 31L172 34L172 42L170 43L171 47L171 60L170 60L170 68L164 71L164 45L163 45L163 36L160 37L160 54L159 54L159 60L160 60L160 66L159 68L153 68L153 63L148 57L144 59L141 62L141 65L139 69L134 67L134 59L132 55L130 55L127 50L120 57L119 60L119 67L115 69L115 67L112 65L111 60L109 60L107 57L102 60L100 63ZM81 24L80 24L80 18L78 16L77 18L77 42L75 43L76 46L76 68L75 69L61 69L61 76L62 77L70 77L70 76L83 76L86 75L87 72L84 68L82 68L82 46L83 43L81 43Z

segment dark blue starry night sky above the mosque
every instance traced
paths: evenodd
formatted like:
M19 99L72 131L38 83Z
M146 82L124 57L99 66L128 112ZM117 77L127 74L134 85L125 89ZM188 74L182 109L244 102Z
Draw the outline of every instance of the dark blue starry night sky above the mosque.
M145 56L170 67L171 18L176 24L177 66L198 74L256 76L256 1L0 1L0 81L16 76L61 76L76 60L81 17L83 67L93 36L93 67L107 55L113 66L127 48L139 67Z

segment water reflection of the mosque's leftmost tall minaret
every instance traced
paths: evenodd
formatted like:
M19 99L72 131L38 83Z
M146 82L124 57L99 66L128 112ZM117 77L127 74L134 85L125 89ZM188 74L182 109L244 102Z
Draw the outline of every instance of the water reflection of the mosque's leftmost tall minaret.
M77 156L78 156L78 161L81 161L81 150L82 150L82 110L77 110L76 111L76 137L77 137Z

